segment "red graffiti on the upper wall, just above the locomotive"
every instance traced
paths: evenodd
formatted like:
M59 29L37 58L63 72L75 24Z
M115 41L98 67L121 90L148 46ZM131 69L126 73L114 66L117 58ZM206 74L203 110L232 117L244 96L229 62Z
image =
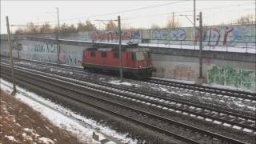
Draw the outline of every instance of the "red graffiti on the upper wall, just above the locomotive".
M122 41L139 39L138 30L122 30ZM90 33L90 39L98 42L118 42L118 31L94 31Z

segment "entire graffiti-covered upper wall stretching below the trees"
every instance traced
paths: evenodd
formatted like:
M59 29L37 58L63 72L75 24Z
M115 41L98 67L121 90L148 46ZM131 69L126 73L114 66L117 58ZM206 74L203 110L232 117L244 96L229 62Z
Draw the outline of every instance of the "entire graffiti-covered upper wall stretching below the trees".
M244 26L205 26L203 27L203 42L204 46L255 46L256 42L256 27L254 25ZM194 35L195 34L195 35ZM93 31L82 32L77 34L63 35L64 39L85 40L94 42L118 42L118 31ZM198 44L199 31L194 30L194 27L182 27L178 29L161 29L161 30L122 30L122 42L128 42L130 39L138 40L166 40L159 41L166 43L181 43L186 41L187 45ZM148 42L148 41L146 41ZM150 41L157 42L157 41Z

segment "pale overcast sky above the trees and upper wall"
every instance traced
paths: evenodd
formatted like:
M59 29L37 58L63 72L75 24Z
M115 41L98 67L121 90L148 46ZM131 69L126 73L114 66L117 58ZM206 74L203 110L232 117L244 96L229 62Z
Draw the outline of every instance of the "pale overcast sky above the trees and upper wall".
M184 1L184 0L183 0ZM174 12L175 19L182 26L192 26L192 23L180 14L189 15L193 22L193 0L183 1L6 1L1 0L1 34L6 34L6 15L10 18L10 24L24 25L27 22L42 24L50 22L57 24L56 7L59 9L61 24L85 22L89 19L97 27L104 27L104 24L94 21L96 19L117 19L118 14L109 14L122 10L142 8L146 6L158 6L143 10L134 10L126 13L119 13L122 22L134 27L149 28L153 24L166 25L166 20ZM216 25L221 22L232 20L246 14L254 14L254 0L197 0L196 9L202 11L204 25ZM170 14L169 14L170 13ZM98 14L109 14L94 16ZM197 11L198 14L198 11ZM94 17L91 17L94 16ZM15 28L12 27L12 30Z

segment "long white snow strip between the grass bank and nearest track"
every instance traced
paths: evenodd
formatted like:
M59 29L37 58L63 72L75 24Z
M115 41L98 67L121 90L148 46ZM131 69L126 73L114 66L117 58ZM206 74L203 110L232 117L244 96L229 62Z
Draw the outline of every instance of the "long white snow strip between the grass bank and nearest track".
M12 83L4 81L2 78L0 81L1 89L10 93L12 91L12 88L10 88L12 87ZM118 134L108 127L101 126L92 119L87 119L79 114L75 114L73 111L59 106L54 102L50 102L49 100L42 98L37 94L22 89L19 86L17 86L17 90L19 92L15 95L15 98L20 99L22 102L25 102L27 105L31 106L34 110L40 112L44 117L48 118L50 122L54 123L54 125L70 131L82 142L88 142L88 140L90 140L89 142L93 141L91 138L92 134L94 131L97 131L101 138L106 138L105 135L107 135L108 137L114 138L120 142L136 143L136 140L126 138L126 134ZM29 96L30 98L26 97L25 95ZM34 99L36 99L38 102L34 101ZM70 115L72 118L68 117L68 115ZM74 120L73 118L76 118L77 120ZM86 123L86 127L82 123ZM46 138L42 138L42 140L46 140Z

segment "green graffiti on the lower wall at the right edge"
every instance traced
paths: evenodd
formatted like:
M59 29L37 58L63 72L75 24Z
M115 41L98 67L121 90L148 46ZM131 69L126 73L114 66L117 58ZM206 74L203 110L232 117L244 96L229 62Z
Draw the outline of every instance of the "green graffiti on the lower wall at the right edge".
M231 66L212 66L208 70L208 81L225 86L253 89L255 70L235 70Z

